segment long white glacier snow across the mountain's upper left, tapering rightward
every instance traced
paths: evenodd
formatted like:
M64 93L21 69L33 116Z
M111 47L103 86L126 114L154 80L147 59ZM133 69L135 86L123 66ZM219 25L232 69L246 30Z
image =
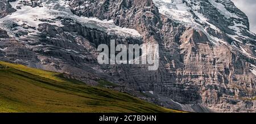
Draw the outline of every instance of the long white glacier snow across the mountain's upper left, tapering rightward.
M55 20L57 17L63 18L71 18L78 23L89 27L96 28L100 31L104 31L111 34L116 34L124 37L134 37L136 39L141 39L141 35L135 29L130 28L122 28L118 27L114 24L113 20L100 20L97 18L86 18L83 16L74 15L69 9L68 5L69 1L64 0L39 0L39 3L42 4L42 7L31 7L31 6L21 6L20 2L23 0L17 0L15 2L10 2L13 8L20 6L21 9L17 9L17 11L13 12L13 14L5 16L5 18L0 19L1 27L4 27L6 31L11 32L9 27L6 27L5 23L14 22L18 25L28 25L30 27L35 27L35 29L23 29L22 27L18 27L19 30L31 32L33 34L38 33L37 30L38 25L42 23L49 23L52 25L56 25L59 27L63 27L59 20ZM40 19L53 20L51 22L42 22ZM31 34L28 34L31 35ZM15 35L12 35L15 37Z

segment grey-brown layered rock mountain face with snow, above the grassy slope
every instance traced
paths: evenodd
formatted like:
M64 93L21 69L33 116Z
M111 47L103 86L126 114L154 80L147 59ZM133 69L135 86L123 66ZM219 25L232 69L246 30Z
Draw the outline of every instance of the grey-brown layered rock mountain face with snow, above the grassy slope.
M229 0L0 2L1 60L109 80L167 108L256 112L256 36ZM99 65L111 39L159 44L159 69Z

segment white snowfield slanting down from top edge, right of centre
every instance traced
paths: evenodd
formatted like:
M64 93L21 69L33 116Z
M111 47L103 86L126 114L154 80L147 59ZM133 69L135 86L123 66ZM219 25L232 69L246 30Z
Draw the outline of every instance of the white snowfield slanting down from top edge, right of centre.
M204 32L208 39L215 45L219 44L219 42L222 42L221 39L218 39L217 37L214 37L207 32L208 27L216 30L216 32L220 31L220 29L218 29L215 25L210 24L208 19L205 18L203 14L197 12L200 10L199 4L194 4L192 8L189 8L187 5L185 5L184 0L153 0L153 2L155 3L156 7L159 8L159 12L161 14L166 15L168 18L176 20L177 22L183 23L201 32ZM194 19L191 11L193 11L199 19ZM196 21L205 23L207 26L203 27Z

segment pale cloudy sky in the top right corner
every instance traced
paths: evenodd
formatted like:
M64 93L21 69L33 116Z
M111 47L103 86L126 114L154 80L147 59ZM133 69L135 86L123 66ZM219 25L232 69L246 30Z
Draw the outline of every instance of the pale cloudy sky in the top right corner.
M232 0L249 18L250 31L256 33L256 0Z

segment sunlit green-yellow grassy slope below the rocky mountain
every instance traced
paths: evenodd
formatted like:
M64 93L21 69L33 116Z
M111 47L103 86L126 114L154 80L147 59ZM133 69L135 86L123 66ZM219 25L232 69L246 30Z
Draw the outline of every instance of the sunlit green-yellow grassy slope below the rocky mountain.
M0 112L178 112L59 75L0 61Z

